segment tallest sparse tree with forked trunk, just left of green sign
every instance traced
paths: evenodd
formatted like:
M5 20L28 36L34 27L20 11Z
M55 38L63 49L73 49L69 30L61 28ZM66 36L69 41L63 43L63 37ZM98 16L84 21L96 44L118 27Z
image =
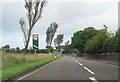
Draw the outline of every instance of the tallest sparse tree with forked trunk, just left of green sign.
M27 9L27 17L29 28L26 28L24 18L21 18L19 23L21 30L24 34L24 45L25 49L28 48L31 32L37 21L42 17L42 11L45 5L47 4L47 0L25 0L25 8Z

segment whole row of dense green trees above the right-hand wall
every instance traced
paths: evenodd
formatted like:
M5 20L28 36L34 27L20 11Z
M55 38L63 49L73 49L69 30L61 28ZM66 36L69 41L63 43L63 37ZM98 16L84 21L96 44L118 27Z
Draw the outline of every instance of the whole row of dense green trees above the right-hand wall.
M79 53L117 53L120 52L120 28L114 34L108 32L107 26L97 30L88 27L73 34L72 51Z

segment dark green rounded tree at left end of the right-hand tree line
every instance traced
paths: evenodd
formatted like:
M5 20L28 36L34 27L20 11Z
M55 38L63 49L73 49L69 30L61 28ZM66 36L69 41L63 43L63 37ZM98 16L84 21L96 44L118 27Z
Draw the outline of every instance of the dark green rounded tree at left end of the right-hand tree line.
M84 30L77 31L72 37L72 47L83 53L86 42L95 36L97 32L98 31L93 27L88 27Z

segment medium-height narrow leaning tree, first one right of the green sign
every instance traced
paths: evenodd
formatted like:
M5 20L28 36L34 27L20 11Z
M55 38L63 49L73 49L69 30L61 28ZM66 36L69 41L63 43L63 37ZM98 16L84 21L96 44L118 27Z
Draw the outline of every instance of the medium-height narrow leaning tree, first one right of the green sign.
M47 43L47 48L50 48L52 45L52 40L54 38L54 35L57 31L58 24L57 23L51 23L50 27L48 27L46 31L46 43Z

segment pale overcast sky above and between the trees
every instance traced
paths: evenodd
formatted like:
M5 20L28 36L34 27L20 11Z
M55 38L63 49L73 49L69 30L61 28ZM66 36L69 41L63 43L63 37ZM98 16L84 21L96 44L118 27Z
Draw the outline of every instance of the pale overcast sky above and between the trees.
M0 47L9 44L12 48L24 48L23 34L20 29L19 19L24 17L27 23L24 2L1 2L0 17L2 34L0 34ZM24 1L24 0L23 0ZM97 2L96 2L97 1ZM118 1L119 0L63 0L49 1L43 10L42 18L33 29L33 34L39 34L40 48L46 47L46 29L52 22L59 23L56 35L64 34L64 44L71 40L73 33L86 27L102 29L103 24L108 26L108 31L116 32L118 29ZM2 10L1 10L2 9ZM55 37L56 37L55 35ZM1 38L2 37L2 38ZM29 46L32 46L32 38Z

